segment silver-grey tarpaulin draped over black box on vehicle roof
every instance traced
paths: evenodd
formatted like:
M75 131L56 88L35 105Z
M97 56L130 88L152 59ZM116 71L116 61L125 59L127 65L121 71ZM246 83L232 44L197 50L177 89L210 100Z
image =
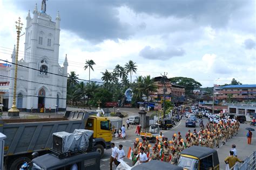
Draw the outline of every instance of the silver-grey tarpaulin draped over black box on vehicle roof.
M93 131L90 130L75 130L73 133L56 132L55 135L62 138L62 152L68 151L86 151L89 146L89 139Z

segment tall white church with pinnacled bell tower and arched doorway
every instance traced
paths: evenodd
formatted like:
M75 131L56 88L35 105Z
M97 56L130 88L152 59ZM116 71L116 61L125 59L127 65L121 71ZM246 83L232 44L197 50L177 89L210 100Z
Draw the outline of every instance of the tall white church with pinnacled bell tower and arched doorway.
M45 0L42 0L41 11L37 5L26 17L25 28L25 55L18 61L17 97L16 103L19 110L29 112L39 111L41 108L52 111L66 109L66 86L68 76L68 60L65 58L63 66L59 61L59 12L55 22L46 14ZM15 49L11 55L15 63ZM26 66L26 67L23 67ZM30 68L33 69L30 69ZM15 75L15 65L9 71L10 77ZM14 79L10 78L8 108L12 106L14 93Z

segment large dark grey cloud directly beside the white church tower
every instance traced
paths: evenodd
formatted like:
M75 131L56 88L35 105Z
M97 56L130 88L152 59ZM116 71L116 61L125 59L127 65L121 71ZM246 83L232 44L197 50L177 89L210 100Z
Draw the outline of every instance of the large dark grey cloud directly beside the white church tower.
M14 1L23 10L33 11L35 3L38 10L41 9L39 0ZM92 43L99 43L105 39L127 39L133 35L129 23L118 18L119 6L118 1L46 1L46 13L54 21L59 11L60 29L71 30Z

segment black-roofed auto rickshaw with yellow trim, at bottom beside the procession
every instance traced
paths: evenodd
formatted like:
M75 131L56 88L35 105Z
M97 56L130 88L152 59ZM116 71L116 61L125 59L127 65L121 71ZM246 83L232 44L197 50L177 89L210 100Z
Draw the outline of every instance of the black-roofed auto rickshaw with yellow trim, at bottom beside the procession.
M180 153L178 166L192 170L219 170L218 153L212 148L191 146Z

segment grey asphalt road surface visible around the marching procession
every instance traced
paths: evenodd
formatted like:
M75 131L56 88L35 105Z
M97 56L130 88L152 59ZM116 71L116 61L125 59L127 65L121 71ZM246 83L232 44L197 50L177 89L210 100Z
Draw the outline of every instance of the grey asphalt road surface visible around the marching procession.
M185 127L185 121L186 120L181 120L180 123L175 126L174 128L172 128L172 130L169 131L163 131L163 134L165 135L165 137L167 137L168 139L171 139L172 135L174 133L178 133L180 132L181 135L183 135L183 137L185 136L186 132L190 129L191 132L193 132L194 128L192 127ZM208 120L204 119L204 124L206 124L208 122ZM245 130L246 127L248 127L248 124L241 124L240 126L240 130L239 133L236 137L234 137L233 139L229 140L228 142L226 142L226 145L224 146L220 146L220 148L216 148L218 151L218 155L219 155L219 161L220 161L220 169L225 169L225 163L224 163L224 159L228 156L229 151L231 149L231 145L235 144L237 145L237 151L238 151L238 158L243 160L246 158L246 156L250 155L252 153L252 151L256 150L256 138L252 139L252 145L247 145L247 139L246 139L246 133L247 131ZM197 123L197 131L199 131L199 124ZM134 131L134 128L132 128L132 130L127 130L127 133L129 133L131 136L127 137L126 140L113 140L113 142L116 144L116 146L122 144L124 147L124 151L127 154L129 147L133 146L133 142L134 139L136 138L136 136L131 133ZM256 136L255 133L253 133L254 137ZM105 151L104 157L103 159L100 161L100 168L101 169L110 169L109 168L109 158L111 155L111 149ZM131 160L124 158L124 161L128 164L128 165L132 165ZM115 167L113 165L113 167Z

